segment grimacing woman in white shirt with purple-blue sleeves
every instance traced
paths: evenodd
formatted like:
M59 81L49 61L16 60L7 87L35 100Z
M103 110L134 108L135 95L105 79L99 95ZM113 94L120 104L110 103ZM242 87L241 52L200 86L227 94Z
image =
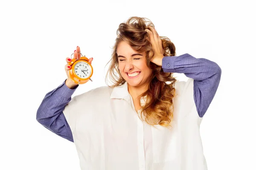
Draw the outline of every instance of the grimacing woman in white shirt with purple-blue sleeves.
M66 65L67 79L38 108L39 123L75 143L82 170L207 170L199 127L221 68L176 56L175 45L147 22L131 17L119 25L107 74L112 86L71 99L79 85ZM79 47L74 56L81 57ZM174 72L189 79L176 81Z

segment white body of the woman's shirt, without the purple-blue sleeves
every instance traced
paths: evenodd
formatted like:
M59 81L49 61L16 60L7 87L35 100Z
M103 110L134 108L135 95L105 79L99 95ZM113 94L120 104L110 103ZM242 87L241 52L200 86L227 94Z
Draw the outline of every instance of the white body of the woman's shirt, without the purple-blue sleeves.
M139 118L127 82L74 96L63 113L81 170L207 170L193 79L175 89L172 129Z

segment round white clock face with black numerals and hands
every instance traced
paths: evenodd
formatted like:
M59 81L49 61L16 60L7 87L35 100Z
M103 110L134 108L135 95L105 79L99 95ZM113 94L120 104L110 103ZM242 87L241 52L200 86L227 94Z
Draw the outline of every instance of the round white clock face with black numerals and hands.
M87 62L80 61L74 66L75 74L81 79L86 79L91 74L90 65Z

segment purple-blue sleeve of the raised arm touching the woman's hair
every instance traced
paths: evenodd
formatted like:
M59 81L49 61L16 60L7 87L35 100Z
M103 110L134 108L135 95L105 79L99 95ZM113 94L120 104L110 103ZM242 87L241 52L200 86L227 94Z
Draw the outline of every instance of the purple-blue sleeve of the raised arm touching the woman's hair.
M217 63L190 54L166 56L162 60L164 72L184 73L194 79L194 101L198 115L203 117L217 91L221 68Z

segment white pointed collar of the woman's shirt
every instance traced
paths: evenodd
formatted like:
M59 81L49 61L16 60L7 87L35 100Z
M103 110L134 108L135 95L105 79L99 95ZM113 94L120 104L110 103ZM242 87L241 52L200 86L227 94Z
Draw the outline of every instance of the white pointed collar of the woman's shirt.
M130 97L131 97L131 95L129 94L129 91L128 91L128 83L127 82L125 82L122 85L114 87L113 91L111 93L111 96L110 96L111 99L113 99L113 98L125 99L128 102L130 102L132 99ZM140 98L141 105L144 105L145 101L146 101L146 96Z

